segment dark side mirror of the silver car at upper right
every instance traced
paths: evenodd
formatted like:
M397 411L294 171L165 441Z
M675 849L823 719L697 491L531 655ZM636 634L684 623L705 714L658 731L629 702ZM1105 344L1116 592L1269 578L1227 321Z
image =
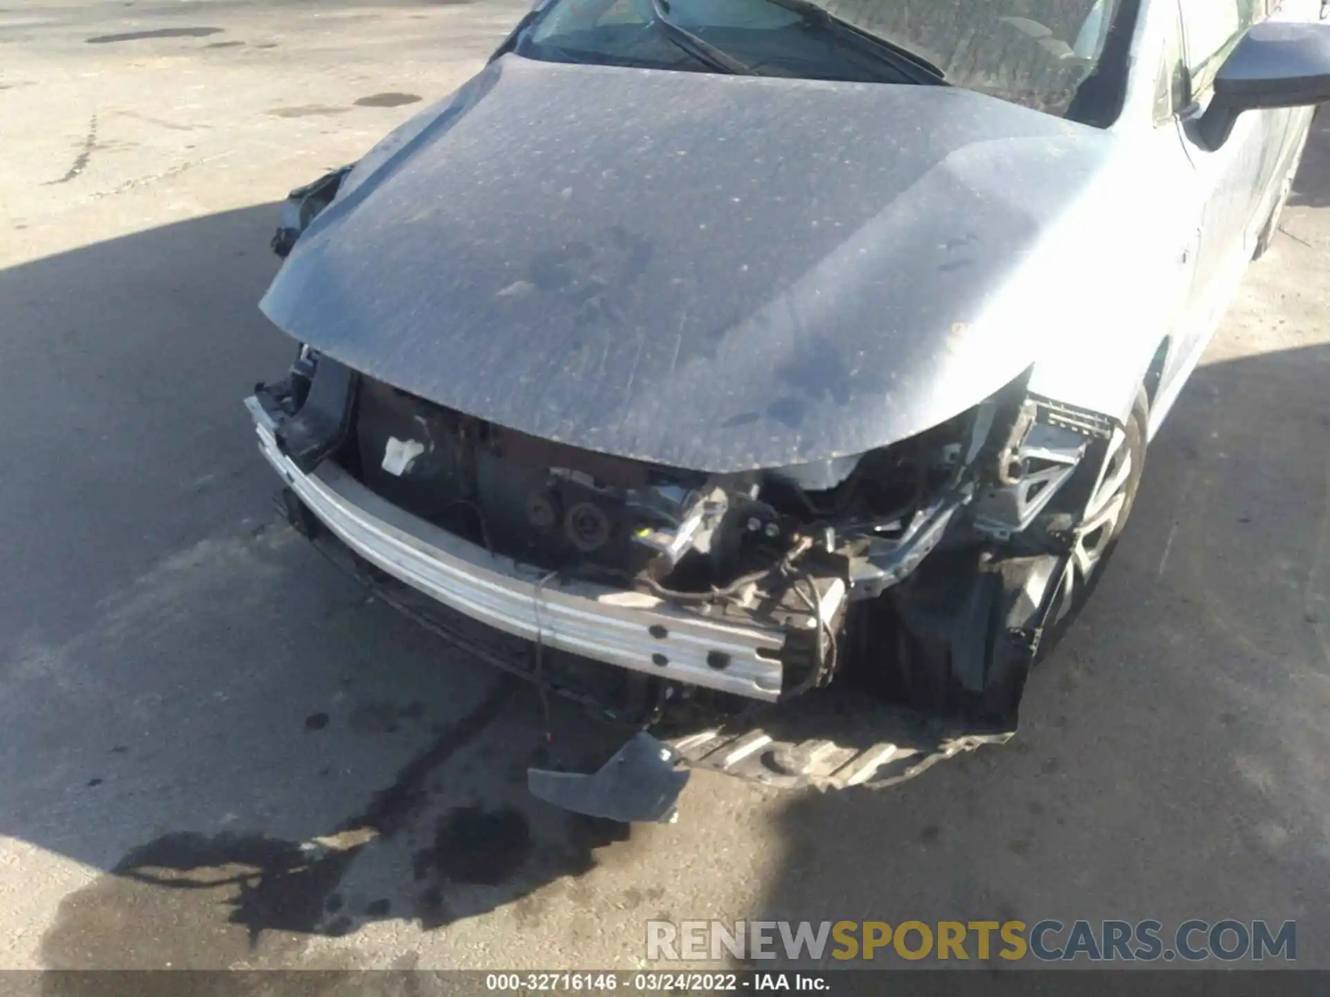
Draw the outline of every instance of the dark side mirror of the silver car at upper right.
M1214 77L1214 98L1197 122L1210 149L1224 145L1244 110L1330 101L1330 24L1264 21Z

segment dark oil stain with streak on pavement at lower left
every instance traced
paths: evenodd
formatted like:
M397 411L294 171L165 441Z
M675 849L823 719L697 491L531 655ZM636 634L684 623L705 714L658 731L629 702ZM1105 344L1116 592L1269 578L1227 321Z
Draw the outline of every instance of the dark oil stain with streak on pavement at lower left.
M499 681L331 833L294 841L185 831L130 849L61 901L43 937L43 962L68 969L291 965L309 936L340 937L392 916L416 919L428 931L519 896L535 913L540 900L529 895L541 885L600 864L636 861L641 836L629 844L629 826L549 810L543 819L552 822L553 833L537 835L523 810L467 799L426 832L410 881L375 889L368 900L342 887L371 843L402 836L415 844L431 794L442 787L439 771L504 713L515 689L515 681ZM422 713L411 703L394 715L415 719ZM458 775L464 771L462 766ZM517 776L509 775L515 783Z

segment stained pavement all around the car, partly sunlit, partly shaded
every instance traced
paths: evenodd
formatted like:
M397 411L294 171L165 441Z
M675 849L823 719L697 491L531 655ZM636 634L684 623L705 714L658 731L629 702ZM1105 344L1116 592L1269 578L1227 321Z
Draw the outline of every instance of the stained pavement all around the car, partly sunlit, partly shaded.
M527 796L601 735L281 525L241 407L274 202L525 8L0 9L0 968L632 968L656 916L1265 917L1330 965L1326 116L1016 740L629 832Z

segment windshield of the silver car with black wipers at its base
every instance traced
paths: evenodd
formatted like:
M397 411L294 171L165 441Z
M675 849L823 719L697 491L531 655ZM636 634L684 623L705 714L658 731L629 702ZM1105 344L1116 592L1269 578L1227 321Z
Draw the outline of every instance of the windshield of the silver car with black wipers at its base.
M553 0L516 49L559 61L861 82L926 82L922 65L954 86L1107 125L1121 105L1137 7L1138 0ZM680 44L680 36L704 45Z

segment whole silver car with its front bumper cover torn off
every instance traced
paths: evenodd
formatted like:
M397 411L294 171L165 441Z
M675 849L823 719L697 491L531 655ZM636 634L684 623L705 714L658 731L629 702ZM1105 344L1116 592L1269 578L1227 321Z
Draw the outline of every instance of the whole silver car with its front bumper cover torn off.
M545 0L293 191L249 399L394 606L708 766L1015 730L1330 98L1319 0Z

